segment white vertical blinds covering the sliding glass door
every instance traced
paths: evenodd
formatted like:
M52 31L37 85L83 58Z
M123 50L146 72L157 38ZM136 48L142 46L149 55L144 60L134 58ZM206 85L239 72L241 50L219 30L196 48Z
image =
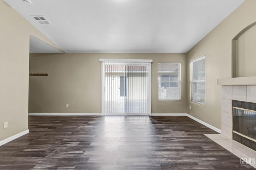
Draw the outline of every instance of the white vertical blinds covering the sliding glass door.
M148 115L149 64L103 61L103 115Z

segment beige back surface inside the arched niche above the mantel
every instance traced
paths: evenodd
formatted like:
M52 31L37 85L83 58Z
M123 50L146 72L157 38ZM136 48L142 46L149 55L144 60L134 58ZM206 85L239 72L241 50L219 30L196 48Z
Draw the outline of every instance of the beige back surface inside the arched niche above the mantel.
M237 77L256 76L256 25L236 40Z

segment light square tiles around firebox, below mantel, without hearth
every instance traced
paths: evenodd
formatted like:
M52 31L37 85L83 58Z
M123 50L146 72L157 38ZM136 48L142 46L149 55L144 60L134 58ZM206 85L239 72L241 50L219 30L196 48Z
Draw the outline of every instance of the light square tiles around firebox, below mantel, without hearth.
M232 100L256 103L256 85L222 85L221 133L232 139Z

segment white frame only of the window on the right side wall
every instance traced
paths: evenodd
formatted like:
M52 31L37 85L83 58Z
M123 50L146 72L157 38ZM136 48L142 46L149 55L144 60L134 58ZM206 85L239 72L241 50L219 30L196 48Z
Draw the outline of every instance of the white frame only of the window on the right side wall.
M205 55L203 55L203 56L201 56L197 59L194 59L194 60L190 61L190 63L189 63L189 66L190 66L190 73L189 73L190 74L190 102L205 106L206 105L206 81L205 81L206 71L204 70L204 80L193 80L192 81L192 78L193 78L193 63L196 62L196 61L203 60L203 59L205 59ZM204 66L205 66L205 60L204 60ZM192 100L192 82L204 82L204 103L196 102L196 101Z

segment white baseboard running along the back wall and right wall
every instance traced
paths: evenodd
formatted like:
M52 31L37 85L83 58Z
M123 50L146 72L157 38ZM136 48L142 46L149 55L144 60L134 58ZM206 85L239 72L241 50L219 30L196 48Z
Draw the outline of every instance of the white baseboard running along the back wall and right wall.
M30 116L101 116L101 113L28 113ZM206 127L209 127L210 129L221 133L221 130L204 122L200 119L197 119L196 117L193 117L192 115L189 115L188 113L151 113L150 116L188 116L191 119L197 121L198 123L201 123L202 125L205 125Z

